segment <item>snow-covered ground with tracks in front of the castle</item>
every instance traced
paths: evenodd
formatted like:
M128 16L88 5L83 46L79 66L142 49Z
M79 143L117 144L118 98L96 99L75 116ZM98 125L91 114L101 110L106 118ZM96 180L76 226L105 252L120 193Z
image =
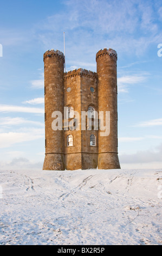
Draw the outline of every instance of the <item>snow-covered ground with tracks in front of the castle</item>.
M0 245L161 245L161 174L1 170Z

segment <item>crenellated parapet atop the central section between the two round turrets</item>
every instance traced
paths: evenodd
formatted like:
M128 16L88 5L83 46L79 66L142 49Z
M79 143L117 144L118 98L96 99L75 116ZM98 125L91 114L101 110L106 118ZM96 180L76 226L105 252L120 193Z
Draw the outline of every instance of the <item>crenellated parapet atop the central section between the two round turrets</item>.
M64 73L64 79L71 78L74 76L87 76L87 77L97 78L98 74L96 72L86 70L86 69L81 69L81 68Z

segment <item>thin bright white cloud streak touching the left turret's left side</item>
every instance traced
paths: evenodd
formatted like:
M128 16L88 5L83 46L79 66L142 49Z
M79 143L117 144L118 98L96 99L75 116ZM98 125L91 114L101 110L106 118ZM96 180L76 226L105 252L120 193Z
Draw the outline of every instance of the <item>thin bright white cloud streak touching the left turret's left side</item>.
M0 112L23 112L23 113L33 113L33 114L44 114L43 108L34 107L22 107L22 106L12 106L12 105L0 105Z

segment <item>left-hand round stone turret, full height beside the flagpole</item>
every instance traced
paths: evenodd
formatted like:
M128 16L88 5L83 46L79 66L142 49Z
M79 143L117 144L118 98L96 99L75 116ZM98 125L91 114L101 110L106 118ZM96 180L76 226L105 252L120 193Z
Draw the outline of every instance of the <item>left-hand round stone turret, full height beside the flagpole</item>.
M44 60L44 100L45 100L45 147L46 156L43 169L64 170L63 131L51 127L54 111L63 113L63 72L64 55L60 51L47 51Z

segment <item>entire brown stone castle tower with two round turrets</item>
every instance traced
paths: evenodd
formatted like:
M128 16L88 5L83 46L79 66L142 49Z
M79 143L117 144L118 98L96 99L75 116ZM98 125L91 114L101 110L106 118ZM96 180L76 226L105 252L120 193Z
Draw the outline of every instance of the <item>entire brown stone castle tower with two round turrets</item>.
M46 134L43 169L120 168L116 52L104 49L96 53L97 72L77 69L64 73L64 55L60 51L47 51L43 57ZM51 127L54 111L62 113L61 130ZM96 129L99 111L110 112L110 133L105 137ZM78 130L70 127L75 120L73 112L80 115ZM85 129L81 129L83 112L86 113ZM105 124L105 119L103 121Z

